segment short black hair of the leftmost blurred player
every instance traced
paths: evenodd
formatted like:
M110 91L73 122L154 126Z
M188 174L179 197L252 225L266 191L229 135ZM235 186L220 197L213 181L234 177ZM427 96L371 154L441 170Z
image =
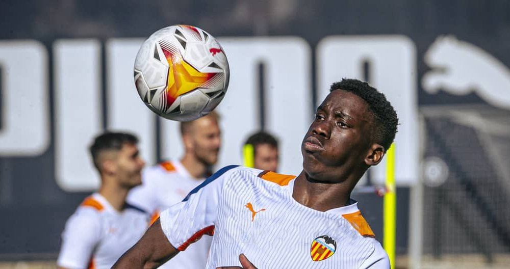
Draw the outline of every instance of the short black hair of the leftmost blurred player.
M106 150L120 150L125 143L136 145L138 138L127 132L104 132L94 138L89 150L92 155L92 161L97 170L101 171L99 164L99 154Z

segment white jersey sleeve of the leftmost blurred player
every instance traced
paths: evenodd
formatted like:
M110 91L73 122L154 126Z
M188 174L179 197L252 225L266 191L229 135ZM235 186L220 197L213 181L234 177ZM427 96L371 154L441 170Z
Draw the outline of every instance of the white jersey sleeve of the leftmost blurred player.
M79 208L67 221L62 233L57 265L66 268L87 268L101 236L98 212Z

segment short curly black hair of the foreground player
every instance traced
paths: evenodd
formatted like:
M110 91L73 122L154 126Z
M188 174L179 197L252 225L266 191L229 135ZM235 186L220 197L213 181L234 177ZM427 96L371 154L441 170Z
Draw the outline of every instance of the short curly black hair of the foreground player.
M377 91L374 87L358 79L343 78L341 82L331 85L329 91L344 90L358 95L363 99L373 114L372 139L388 150L395 140L397 133L398 118L395 109L384 93Z

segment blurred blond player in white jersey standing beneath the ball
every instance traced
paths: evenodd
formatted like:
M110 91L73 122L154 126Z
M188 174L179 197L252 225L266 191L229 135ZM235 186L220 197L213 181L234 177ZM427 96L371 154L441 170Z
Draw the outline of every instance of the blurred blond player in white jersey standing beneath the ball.
M181 202L196 186L211 175L221 146L218 114L212 112L190 122L181 122L184 156L181 160L163 162L142 173L142 185L131 191L127 200L154 213ZM205 268L212 238L207 236L161 268Z

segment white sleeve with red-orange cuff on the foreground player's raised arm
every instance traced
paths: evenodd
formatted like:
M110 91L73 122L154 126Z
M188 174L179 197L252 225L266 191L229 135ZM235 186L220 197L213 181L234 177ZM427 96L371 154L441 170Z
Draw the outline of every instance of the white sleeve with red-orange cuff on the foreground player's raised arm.
M184 251L202 235L213 235L223 185L235 167L220 169L193 189L182 202L161 212L161 228L172 246Z

